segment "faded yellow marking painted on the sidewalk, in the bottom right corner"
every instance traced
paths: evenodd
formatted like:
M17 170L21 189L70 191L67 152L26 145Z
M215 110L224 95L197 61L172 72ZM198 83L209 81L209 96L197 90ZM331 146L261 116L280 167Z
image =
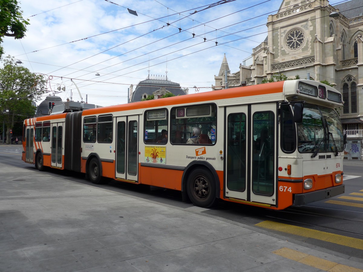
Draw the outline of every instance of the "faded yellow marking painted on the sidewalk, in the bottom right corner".
M278 250L272 251L272 253L285 257L290 260L298 261L311 267L315 267L324 271L338 272L338 271L351 271L351 272L362 272L362 269L351 267L348 265L338 264L334 261L328 261L322 258L318 258L297 250L293 250L288 247L283 247Z

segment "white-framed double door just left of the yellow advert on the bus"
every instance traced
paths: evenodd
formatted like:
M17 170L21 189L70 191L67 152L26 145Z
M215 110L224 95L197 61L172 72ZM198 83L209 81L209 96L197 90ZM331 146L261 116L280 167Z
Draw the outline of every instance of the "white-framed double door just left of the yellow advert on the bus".
M138 116L116 118L116 173L118 180L138 181Z

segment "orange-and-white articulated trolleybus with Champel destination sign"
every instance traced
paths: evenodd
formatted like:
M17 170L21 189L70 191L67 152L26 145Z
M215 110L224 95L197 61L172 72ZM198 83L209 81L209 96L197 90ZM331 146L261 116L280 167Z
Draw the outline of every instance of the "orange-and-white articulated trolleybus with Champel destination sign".
M64 112L24 121L23 160L285 209L344 193L342 96L291 80Z

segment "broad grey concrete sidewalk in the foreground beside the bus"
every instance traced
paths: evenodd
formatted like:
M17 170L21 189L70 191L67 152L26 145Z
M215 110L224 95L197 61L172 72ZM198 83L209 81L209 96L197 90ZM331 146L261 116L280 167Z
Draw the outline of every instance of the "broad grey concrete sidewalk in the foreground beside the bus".
M299 246L204 210L0 163L0 271L363 269L363 259Z

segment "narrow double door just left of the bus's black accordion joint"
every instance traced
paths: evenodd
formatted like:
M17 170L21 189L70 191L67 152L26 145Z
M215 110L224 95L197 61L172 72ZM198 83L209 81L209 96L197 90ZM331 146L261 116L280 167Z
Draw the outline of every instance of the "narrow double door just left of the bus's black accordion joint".
M52 167L62 168L63 165L63 123L52 124Z

